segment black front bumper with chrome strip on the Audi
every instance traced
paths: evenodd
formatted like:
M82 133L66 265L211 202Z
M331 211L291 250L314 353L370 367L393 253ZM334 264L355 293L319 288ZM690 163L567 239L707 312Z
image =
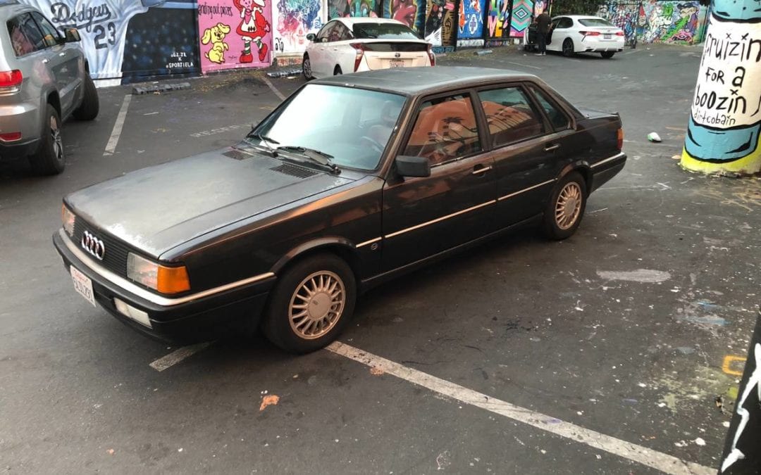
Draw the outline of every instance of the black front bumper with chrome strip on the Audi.
M221 290L212 295L200 293L202 296L197 299L169 299L158 294L155 294L155 299L148 299L145 298L145 292L139 295L124 288L126 285L119 285L119 281L124 279L114 277L110 271L79 252L63 230L53 234L53 245L67 270L73 265L92 280L95 301L103 309L142 334L172 343L212 340L240 328L255 328L269 290L275 283L275 276L267 275L253 283ZM119 312L114 299L146 312L150 328Z

